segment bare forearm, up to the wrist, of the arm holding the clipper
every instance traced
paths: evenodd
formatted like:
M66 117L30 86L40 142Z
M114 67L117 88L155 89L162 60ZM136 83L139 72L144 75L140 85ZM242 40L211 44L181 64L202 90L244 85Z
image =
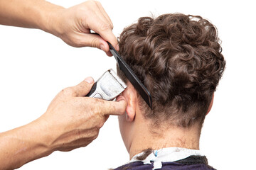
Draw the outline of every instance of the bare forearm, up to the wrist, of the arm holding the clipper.
M16 169L53 152L50 130L38 120L14 130L0 133L0 169Z

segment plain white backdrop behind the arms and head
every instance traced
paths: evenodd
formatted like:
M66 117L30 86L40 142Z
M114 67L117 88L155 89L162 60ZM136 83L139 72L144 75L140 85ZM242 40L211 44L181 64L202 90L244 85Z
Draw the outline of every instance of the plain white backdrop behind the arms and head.
M70 7L82 0L50 0ZM114 35L141 16L185 13L208 18L218 28L227 67L206 116L201 150L216 169L253 169L255 149L255 8L252 1L101 1ZM0 132L42 115L58 92L87 76L115 69L114 57L75 48L41 30L0 26ZM42 132L43 133L43 132ZM31 134L33 135L33 134ZM54 152L20 169L108 169L129 161L111 116L85 148Z

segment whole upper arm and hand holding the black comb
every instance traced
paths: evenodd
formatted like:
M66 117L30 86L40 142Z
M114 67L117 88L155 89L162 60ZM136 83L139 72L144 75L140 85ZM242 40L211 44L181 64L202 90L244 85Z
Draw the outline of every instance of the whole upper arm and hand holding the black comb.
M0 0L0 24L38 28L73 47L97 47L109 56L106 41L119 50L112 21L98 1L63 8L43 0Z

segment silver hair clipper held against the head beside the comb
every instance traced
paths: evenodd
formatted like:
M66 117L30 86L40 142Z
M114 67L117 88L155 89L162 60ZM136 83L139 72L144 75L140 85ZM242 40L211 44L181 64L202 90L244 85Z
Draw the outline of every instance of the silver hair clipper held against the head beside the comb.
M109 69L105 72L95 84L93 84L87 97L102 98L112 101L127 88L127 85L120 79L114 70Z

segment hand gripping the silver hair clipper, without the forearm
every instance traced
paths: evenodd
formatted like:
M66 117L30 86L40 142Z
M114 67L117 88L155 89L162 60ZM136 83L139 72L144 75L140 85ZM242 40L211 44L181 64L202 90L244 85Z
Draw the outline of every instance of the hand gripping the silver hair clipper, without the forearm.
M39 118L49 132L48 145L53 150L70 151L95 140L109 115L122 115L127 107L123 96L117 101L85 97L93 85L87 78L77 86L60 91Z

